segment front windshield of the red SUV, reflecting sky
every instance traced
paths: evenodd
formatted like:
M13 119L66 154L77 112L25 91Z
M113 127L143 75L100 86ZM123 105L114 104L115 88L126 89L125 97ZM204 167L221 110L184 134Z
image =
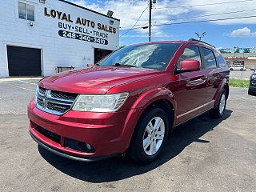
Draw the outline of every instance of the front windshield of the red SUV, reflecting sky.
M102 59L97 65L166 70L180 45L180 43L150 43L126 46Z

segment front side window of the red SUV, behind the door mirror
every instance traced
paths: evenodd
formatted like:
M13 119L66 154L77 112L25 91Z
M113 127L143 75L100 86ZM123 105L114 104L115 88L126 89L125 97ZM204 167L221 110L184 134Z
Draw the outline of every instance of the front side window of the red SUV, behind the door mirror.
M184 59L195 59L198 60L200 62L201 65L201 56L200 56L200 51L198 46L190 46L187 47L184 50L184 53L182 54L182 56L179 58L178 63L177 63L177 69L181 68L181 63Z

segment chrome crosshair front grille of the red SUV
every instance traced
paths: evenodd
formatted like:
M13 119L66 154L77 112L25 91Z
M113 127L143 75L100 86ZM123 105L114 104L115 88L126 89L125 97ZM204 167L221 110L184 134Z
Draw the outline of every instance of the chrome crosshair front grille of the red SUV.
M38 109L50 114L65 114L73 106L78 94L56 90L46 90L38 87L35 94L35 104Z

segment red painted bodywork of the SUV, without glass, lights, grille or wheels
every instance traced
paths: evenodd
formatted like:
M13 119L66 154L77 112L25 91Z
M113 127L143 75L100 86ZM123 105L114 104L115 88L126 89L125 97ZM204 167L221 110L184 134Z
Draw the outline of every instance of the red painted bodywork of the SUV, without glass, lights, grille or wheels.
M227 66L174 74L176 63L186 47L203 46L217 50L196 41L148 43L181 43L181 46L171 58L166 70L94 66L90 69L55 74L38 82L39 87L48 90L76 94L129 92L129 97L116 112L68 110L62 115L39 110L33 99L28 106L30 134L50 149L73 157L90 159L124 154L130 146L138 119L153 102L161 99L170 102L174 108L174 126L218 105L220 94L228 83L230 72ZM38 132L37 126L58 134L61 137L60 142L54 142ZM93 146L95 151L86 153L65 147L66 138L86 142Z

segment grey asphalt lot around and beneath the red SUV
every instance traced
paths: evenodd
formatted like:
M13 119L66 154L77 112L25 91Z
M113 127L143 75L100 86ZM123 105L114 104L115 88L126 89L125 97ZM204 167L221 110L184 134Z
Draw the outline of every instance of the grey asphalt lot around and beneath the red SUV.
M245 191L256 189L256 97L231 88L226 114L178 127L158 161L82 163L38 147L26 106L38 80L0 82L0 191Z

